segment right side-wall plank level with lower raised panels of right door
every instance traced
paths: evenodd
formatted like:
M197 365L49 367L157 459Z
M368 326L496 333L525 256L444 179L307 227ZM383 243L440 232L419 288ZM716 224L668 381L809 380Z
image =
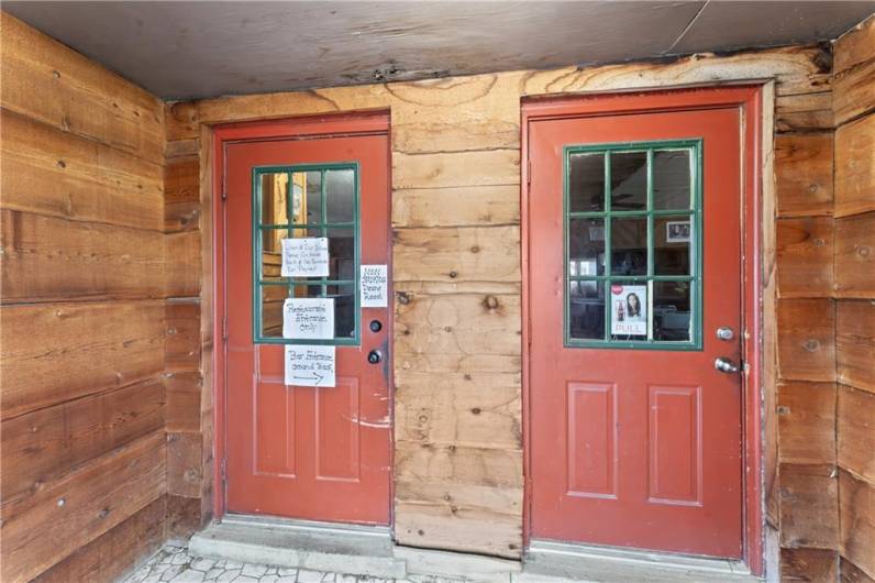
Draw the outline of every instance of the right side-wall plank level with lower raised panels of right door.
M839 465L875 484L875 393L839 387Z

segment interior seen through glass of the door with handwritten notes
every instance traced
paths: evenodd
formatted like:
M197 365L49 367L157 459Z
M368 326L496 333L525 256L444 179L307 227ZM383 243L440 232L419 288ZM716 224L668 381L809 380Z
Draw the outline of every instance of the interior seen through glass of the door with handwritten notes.
M262 256L256 301L261 302L261 338L283 338L286 298L318 297L334 300L334 339L354 339L357 295L355 170L265 173L258 186ZM328 277L280 275L284 239L322 237L328 238Z

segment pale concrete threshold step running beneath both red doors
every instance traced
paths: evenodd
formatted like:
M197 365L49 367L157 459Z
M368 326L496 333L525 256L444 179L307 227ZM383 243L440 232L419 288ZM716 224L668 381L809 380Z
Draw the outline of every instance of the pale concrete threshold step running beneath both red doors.
M753 583L740 561L534 540L523 562L396 546L387 527L226 515L189 541L193 556L383 579L477 583ZM419 580L419 579L417 579Z

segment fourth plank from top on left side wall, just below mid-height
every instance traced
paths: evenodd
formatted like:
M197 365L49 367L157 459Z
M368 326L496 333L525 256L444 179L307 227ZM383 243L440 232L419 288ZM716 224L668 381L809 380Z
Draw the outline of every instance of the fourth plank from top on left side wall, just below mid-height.
M162 301L3 306L0 317L4 420L164 370Z

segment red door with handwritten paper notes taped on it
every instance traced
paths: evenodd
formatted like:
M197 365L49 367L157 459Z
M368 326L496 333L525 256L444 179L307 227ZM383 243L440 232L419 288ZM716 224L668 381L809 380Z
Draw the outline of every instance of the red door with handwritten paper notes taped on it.
M389 263L387 135L229 143L225 164L228 510L386 525L391 322L358 274ZM284 275L296 239L326 240L326 275L303 248ZM284 337L288 299L328 301L333 327ZM333 346L335 381L286 385L287 343Z

